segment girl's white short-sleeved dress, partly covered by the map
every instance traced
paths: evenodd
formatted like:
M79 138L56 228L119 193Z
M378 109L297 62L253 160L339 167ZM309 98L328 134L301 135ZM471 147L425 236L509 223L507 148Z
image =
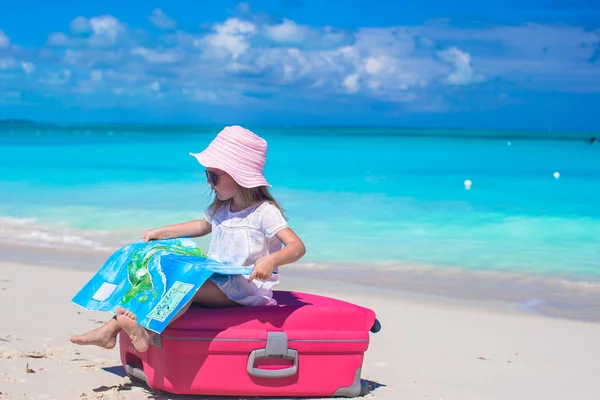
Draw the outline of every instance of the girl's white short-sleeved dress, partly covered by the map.
M281 211L270 202L262 202L238 212L230 204L221 206L212 215L205 213L212 226L208 257L233 265L251 266L256 260L281 250L282 243L275 236L288 226ZM214 275L211 280L233 301L246 306L274 305L272 289L279 284L277 270L267 280L249 275Z

